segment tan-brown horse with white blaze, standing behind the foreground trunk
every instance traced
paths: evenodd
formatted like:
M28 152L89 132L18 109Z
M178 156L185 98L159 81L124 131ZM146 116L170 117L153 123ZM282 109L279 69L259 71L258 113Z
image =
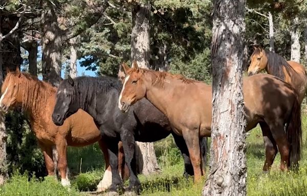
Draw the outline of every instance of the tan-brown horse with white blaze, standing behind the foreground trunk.
M128 111L130 106L146 97L170 120L173 131L183 135L194 169L194 181L202 174L199 137L210 136L212 121L212 88L202 82L167 72L123 65L126 77L118 106ZM298 95L291 85L271 75L259 74L244 79L246 131L258 123L266 146L268 171L277 154L280 169L286 170L300 159L301 121ZM283 127L288 124L287 131Z

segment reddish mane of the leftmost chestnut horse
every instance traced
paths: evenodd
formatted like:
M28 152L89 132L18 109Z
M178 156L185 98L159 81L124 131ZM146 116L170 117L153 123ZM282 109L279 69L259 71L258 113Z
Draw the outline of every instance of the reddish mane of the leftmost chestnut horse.
M18 85L19 92L22 93L24 110L34 109L35 111L45 111L48 98L56 92L56 88L47 82L38 80L27 73L20 73L20 77L15 72L9 72L2 85L5 90L9 84Z

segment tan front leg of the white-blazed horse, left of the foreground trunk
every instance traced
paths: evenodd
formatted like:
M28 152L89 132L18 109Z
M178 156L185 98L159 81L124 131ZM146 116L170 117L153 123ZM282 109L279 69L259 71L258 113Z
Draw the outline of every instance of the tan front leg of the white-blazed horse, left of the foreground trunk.
M194 182L199 182L203 175L199 132L198 130L183 130L182 134L192 162Z

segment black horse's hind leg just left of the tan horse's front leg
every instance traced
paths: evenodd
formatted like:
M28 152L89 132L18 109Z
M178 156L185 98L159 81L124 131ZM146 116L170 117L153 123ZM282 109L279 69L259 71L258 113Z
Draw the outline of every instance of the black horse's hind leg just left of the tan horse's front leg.
M174 137L175 143L178 146L182 157L184 161L184 176L187 179L188 176L194 176L193 166L191 163L189 151L187 148L187 144L185 143L185 140L182 136L176 135L172 133L172 136Z

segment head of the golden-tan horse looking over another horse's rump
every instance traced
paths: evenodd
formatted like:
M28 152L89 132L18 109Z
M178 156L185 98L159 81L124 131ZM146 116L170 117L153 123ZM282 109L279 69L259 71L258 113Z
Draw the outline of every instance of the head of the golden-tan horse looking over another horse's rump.
M268 57L266 51L262 47L253 46L254 52L251 56L251 64L248 68L248 75L258 74L261 70L264 70L268 64Z

